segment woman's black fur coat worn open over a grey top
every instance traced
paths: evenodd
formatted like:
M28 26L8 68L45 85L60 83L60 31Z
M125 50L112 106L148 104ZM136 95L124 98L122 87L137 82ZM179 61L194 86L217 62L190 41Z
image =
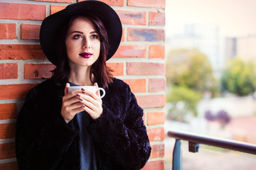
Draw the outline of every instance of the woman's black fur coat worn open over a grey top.
M79 127L60 115L65 83L48 79L28 92L16 123L18 169L80 169ZM90 122L97 169L141 169L151 152L142 108L119 79L105 91L103 113Z

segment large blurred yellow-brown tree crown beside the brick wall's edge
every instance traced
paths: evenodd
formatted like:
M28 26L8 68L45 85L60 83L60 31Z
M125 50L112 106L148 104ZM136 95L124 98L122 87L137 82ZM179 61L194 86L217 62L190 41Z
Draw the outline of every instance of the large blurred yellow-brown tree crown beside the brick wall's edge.
M198 50L173 50L166 57L166 83L186 86L203 92L211 91L215 96L218 83L206 55Z

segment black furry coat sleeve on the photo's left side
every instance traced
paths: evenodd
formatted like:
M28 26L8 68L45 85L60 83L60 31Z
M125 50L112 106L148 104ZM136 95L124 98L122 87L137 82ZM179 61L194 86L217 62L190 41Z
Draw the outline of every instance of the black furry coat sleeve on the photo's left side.
M33 90L28 93L16 122L16 158L20 170L54 169L77 135L60 114L46 116L50 114L43 113L47 111L42 109L43 99L38 100L35 94Z

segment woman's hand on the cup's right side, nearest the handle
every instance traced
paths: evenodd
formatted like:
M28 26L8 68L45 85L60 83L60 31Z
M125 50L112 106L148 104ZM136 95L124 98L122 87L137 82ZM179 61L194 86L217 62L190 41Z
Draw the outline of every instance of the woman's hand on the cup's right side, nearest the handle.
M94 84L97 86L97 83ZM84 111L89 113L93 120L100 118L102 115L102 99L100 98L100 91L98 90L96 93L83 89L82 94L80 94L80 103L82 103L82 108Z

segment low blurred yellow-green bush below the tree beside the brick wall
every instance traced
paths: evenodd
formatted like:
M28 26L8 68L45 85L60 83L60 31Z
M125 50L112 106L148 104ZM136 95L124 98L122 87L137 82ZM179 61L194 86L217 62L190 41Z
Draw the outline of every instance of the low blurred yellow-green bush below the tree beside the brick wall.
M179 119L176 117L180 115L183 117L182 119L184 119L186 113L189 112L195 116L197 115L196 105L201 98L201 94L193 89L188 89L185 86L172 86L171 93L166 97L166 101L173 104L171 108L172 117Z

